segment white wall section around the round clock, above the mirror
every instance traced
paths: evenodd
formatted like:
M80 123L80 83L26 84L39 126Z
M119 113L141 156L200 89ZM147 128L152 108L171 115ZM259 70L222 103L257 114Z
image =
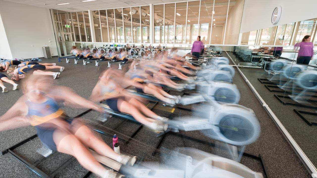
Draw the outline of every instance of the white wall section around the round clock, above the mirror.
M271 16L278 5L282 14L273 25ZM317 0L245 0L240 33L316 18L316 7Z

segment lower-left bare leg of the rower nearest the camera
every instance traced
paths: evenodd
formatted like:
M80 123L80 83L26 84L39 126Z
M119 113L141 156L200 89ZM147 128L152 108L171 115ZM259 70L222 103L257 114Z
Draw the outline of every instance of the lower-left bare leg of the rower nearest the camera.
M87 170L104 177L107 169L104 168L87 148L73 134L56 129L53 133L53 140L57 151L74 156L77 161Z

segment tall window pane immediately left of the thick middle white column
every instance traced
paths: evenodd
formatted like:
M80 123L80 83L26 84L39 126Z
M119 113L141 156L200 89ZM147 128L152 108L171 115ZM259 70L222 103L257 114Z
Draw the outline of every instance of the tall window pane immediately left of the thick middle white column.
M142 42L150 43L150 7L141 7Z

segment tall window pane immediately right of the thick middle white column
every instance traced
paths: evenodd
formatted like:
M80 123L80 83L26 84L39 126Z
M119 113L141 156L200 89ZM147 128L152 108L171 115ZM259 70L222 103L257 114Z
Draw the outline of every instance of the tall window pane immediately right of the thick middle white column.
M163 43L164 5L154 5L154 43Z

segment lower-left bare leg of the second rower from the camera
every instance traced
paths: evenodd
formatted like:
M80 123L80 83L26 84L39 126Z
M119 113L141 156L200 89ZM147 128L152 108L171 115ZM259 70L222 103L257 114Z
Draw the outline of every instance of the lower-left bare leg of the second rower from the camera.
M143 116L137 108L121 99L118 99L118 110L120 112L131 114L134 117L134 119L140 122L141 124L147 126L150 126L152 124L152 122L150 122L145 116Z

